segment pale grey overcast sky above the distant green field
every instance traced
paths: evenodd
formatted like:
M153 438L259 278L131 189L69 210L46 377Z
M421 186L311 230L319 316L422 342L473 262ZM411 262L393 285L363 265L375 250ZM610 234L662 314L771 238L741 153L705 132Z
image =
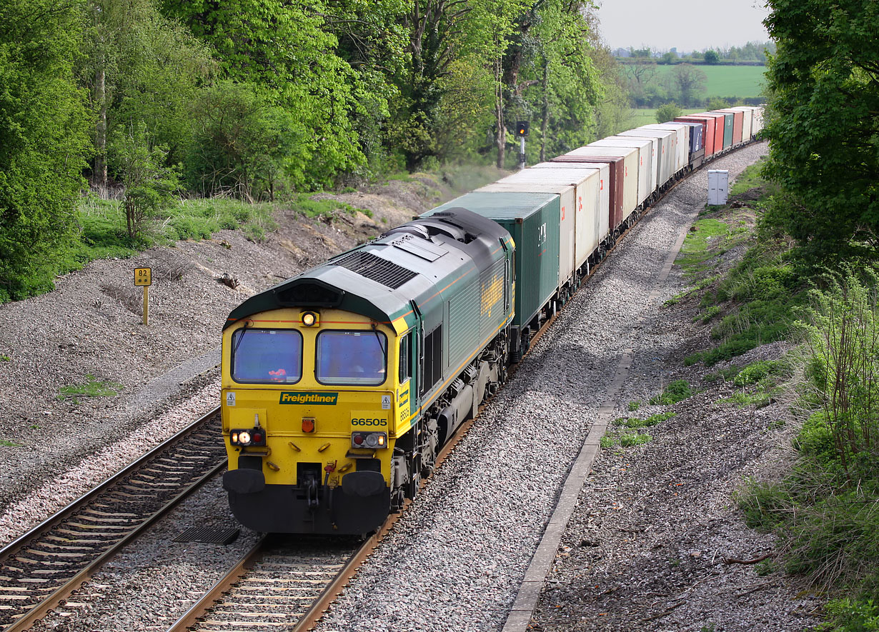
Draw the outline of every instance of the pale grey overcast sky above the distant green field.
M601 35L611 48L679 51L766 41L763 0L598 0ZM713 20L714 24L707 25Z

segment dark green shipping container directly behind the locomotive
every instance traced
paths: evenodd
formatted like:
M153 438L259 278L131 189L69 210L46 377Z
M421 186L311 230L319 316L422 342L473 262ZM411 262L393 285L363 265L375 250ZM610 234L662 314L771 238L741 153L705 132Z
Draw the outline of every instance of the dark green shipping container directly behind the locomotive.
M516 313L522 329L558 291L559 197L553 193L473 192L425 212L462 207L494 219L516 242Z

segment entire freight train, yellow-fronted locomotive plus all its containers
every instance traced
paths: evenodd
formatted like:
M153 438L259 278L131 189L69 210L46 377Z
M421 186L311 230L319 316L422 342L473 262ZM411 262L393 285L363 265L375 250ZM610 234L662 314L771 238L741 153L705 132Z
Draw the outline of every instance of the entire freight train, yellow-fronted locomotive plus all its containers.
M739 107L598 140L248 298L222 334L236 519L380 527L621 233L761 129L762 110Z

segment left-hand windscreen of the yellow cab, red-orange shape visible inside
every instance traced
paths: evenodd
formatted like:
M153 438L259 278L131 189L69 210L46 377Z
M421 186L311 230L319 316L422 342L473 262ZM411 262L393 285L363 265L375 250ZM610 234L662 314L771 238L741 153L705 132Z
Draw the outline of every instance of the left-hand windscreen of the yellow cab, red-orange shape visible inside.
M236 382L294 384L302 377L302 335L295 329L238 329L231 363Z

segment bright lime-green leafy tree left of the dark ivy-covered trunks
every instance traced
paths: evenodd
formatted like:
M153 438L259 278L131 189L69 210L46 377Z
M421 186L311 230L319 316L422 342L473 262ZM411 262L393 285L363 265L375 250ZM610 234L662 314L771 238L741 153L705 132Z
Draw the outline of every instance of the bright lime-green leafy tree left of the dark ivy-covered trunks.
M366 114L359 98L366 89L336 54L327 4L163 0L164 11L214 47L223 78L257 86L260 98L307 130L287 164L294 186L305 189L331 186L339 173L366 162L354 127L358 113Z

